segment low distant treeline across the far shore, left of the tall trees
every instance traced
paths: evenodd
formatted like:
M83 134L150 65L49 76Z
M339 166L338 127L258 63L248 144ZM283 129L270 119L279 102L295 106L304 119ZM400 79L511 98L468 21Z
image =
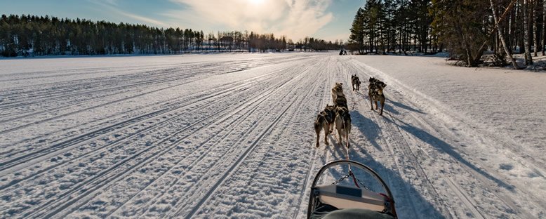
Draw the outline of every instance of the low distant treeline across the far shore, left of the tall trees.
M205 51L302 51L339 49L342 41L255 32L218 32L157 28L106 21L55 18L48 15L2 15L0 53L6 57L39 55L178 54Z

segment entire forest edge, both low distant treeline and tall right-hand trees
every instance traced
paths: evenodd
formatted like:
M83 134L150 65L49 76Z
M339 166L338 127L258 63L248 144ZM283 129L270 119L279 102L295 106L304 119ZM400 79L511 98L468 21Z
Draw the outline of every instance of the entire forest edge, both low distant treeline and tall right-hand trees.
M305 37L297 42L274 34L163 29L146 25L2 15L4 56L178 54L202 51L302 51L347 48L367 53L447 51L462 65L513 65L512 55L545 55L546 0L367 0L357 11L348 42Z

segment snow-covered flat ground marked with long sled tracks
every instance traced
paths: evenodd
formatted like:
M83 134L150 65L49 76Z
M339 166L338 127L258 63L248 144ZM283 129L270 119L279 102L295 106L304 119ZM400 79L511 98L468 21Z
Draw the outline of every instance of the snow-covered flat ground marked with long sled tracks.
M0 215L305 218L335 82L399 218L546 218L546 73L337 53L0 60Z

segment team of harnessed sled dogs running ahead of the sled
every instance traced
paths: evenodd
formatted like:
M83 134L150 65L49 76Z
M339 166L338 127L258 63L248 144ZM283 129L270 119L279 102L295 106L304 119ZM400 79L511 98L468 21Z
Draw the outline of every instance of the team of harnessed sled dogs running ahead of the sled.
M381 112L383 113L383 106L385 105L385 95L383 94L383 88L387 84L382 81L370 77L368 85L368 98L370 99L371 110L373 110L372 102L375 102L375 110L378 110L378 101L381 104ZM360 79L354 74L351 75L352 90L360 90ZM343 93L343 84L335 83L332 88L332 102L333 105L326 104L324 110L322 110L317 119L314 122L314 131L317 133L316 147L319 147L319 139L321 130L324 130L324 143L328 145L328 135L333 132L333 126L338 131L339 144L342 145L342 138L347 139L347 147L349 147L349 133L351 131L351 114L349 114L349 108L347 107L347 98Z

